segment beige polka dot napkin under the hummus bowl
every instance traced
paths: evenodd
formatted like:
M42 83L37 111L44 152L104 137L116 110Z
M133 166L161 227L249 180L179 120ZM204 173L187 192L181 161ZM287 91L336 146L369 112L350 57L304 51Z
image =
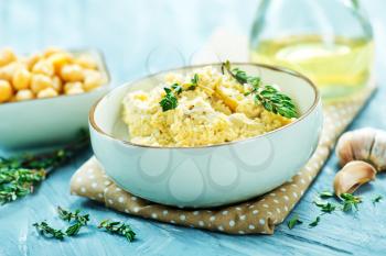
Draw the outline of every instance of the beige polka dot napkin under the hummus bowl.
M291 180L279 188L246 202L215 209L186 210L153 203L121 190L95 157L85 163L71 180L71 192L106 204L128 214L176 225L232 234L272 234L283 222L326 160L339 134L365 104L374 87L363 93L324 105L324 126L319 146Z

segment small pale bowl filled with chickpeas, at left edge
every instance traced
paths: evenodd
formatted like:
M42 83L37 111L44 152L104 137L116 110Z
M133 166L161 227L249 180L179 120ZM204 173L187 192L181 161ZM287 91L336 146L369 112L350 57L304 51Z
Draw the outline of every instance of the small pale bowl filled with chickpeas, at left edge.
M88 126L88 111L109 90L97 51L56 47L29 56L0 49L0 147L61 143Z

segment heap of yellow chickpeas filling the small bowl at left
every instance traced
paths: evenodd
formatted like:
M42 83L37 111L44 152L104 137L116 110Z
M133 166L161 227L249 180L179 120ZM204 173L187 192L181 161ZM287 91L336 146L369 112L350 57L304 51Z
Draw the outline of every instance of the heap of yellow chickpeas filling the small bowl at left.
M18 58L12 49L0 49L0 102L76 94L94 90L105 79L89 54L76 57L49 47Z

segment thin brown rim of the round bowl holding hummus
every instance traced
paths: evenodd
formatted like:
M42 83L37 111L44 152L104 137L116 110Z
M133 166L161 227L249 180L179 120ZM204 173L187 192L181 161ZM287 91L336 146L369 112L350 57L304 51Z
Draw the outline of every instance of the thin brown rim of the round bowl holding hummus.
M293 121L293 122L291 122L289 124L286 124L286 125L281 126L281 127L275 129L275 130L272 130L270 132L267 132L267 133L264 133L264 134L259 134L259 135L256 135L256 136L253 136L253 137L238 140L238 141L232 141L232 142L219 143L219 144L202 145L202 146L192 146L192 147L183 147L183 146L150 146L150 145L132 143L132 142L129 142L129 141L117 138L117 137L112 136L111 134L108 134L107 132L103 131L98 126L96 121L95 121L95 110L96 110L96 108L98 107L100 101L103 101L105 98L108 98L115 90L118 90L118 89L124 88L124 87L128 87L128 86L130 86L132 84L136 84L136 82L139 82L139 81L141 81L143 79L152 78L152 77L159 76L159 75L164 74L164 73L178 71L178 70L182 70L182 69L202 68L202 67L206 67L206 66L218 66L221 64L222 63L210 63L210 64L199 64L199 65L182 66L182 67L176 67L176 68L172 68L172 69L161 70L161 71L158 71L158 73L154 73L154 74L151 74L151 75L148 75L148 76L144 76L144 77L140 77L138 79L133 79L131 81L125 82L121 86L118 86L118 87L111 89L107 94L101 97L98 101L96 101L93 104L93 107L92 107L92 109L89 110L89 113L88 113L89 126L92 126L92 129L95 130L97 133L99 133L99 134L101 134L104 136L107 136L110 140L117 141L117 142L126 144L126 145L135 146L135 147L157 148L157 149L204 149L204 148L211 148L211 147L229 146L229 145L234 145L234 144L238 144L238 143L245 143L245 142L248 142L248 141L251 141L251 140L256 140L258 137L269 136L270 134L280 132L282 130L286 130L286 129L288 129L290 126L296 125L297 123L299 123L300 121L302 121L303 119L309 116L314 111L314 109L317 108L317 105L321 101L321 94L319 92L318 87L311 81L311 79L309 79L308 77L305 77L304 75L302 75L302 74L300 74L298 71L294 71L294 70L286 68L286 67L272 66L272 65L260 64L260 63L234 62L232 64L236 65L236 66L237 65L239 65L239 66L244 65L244 66L256 66L256 67L259 67L259 68L267 68L267 69L274 70L274 71L285 73L285 74L298 77L298 78L307 81L307 84L313 89L314 96L315 96L312 105L299 119L297 119L296 121Z

